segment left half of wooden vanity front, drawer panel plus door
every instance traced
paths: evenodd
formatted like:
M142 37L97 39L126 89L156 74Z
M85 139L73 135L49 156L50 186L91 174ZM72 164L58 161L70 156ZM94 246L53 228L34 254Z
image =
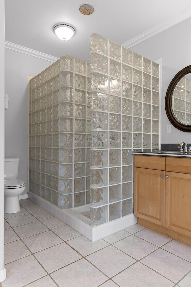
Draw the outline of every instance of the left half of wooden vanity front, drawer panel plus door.
M165 157L135 155L134 214L165 226Z

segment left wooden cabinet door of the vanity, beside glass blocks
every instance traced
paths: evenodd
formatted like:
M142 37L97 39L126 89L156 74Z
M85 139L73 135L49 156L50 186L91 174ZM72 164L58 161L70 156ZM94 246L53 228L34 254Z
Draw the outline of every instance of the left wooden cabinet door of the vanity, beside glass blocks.
M135 167L134 214L165 226L165 172Z

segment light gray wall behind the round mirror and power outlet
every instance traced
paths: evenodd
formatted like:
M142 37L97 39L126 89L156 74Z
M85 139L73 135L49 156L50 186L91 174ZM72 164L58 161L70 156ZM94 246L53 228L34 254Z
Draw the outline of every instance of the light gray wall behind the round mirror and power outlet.
M191 17L171 28L158 33L129 49L148 59L162 58L162 105L161 105L161 143L190 143L189 132L181 132L172 126L172 133L166 133L170 124L165 112L165 95L172 78L184 67L191 65Z

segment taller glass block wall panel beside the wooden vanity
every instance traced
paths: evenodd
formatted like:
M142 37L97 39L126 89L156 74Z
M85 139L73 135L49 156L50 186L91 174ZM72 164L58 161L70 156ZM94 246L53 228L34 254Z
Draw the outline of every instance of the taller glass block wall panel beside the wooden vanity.
M132 149L159 148L159 65L102 36L90 40L90 224L133 212Z

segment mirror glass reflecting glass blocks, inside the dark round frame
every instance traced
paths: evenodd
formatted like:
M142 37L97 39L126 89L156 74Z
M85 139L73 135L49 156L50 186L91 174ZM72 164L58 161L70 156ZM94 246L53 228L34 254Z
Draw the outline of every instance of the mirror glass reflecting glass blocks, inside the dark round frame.
M172 95L173 113L177 120L185 125L191 125L191 81L183 77L176 85Z

